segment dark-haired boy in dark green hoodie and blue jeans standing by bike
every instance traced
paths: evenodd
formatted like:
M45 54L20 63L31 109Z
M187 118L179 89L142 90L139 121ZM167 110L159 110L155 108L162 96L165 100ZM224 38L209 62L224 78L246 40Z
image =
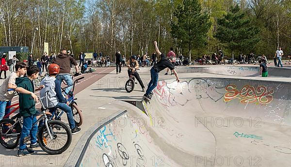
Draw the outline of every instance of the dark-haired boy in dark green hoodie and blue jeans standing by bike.
M35 123L35 103L38 101L34 91L41 90L43 86L34 89L33 80L38 77L39 69L36 65L32 65L27 69L27 77L16 78L16 91L19 92L19 113L23 117L22 131L19 140L19 150L17 156L33 154L33 148L39 147L36 140L37 124ZM35 124L34 124L35 123ZM26 142L31 140L30 149L27 148Z

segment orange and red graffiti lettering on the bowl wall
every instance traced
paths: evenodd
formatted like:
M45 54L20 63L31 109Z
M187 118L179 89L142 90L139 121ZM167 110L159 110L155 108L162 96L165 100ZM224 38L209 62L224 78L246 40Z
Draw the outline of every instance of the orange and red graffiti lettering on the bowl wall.
M237 89L236 85L227 85L226 93L224 94L224 101L229 102L233 99L239 99L242 104L255 103L259 101L261 104L269 104L273 101L273 89L266 86L259 85L255 89L251 85L244 85L241 90Z

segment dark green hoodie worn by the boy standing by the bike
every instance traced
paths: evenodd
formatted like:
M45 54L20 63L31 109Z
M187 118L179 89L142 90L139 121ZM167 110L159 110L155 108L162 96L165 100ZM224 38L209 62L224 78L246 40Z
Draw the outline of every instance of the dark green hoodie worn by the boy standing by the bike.
M28 77L18 77L15 81L17 87L34 92L33 81ZM22 117L32 116L37 113L35 102L30 94L19 93L19 113Z

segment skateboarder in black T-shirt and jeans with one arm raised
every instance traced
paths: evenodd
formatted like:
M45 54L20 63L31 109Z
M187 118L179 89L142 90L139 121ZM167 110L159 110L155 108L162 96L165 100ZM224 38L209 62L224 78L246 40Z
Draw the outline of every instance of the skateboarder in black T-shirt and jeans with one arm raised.
M179 82L179 78L178 78L178 74L175 70L174 65L172 64L172 62L175 61L174 57L170 57L169 59L167 58L167 56L163 53L160 52L159 48L158 48L158 44L155 41L154 45L156 47L156 52L161 55L161 60L155 64L151 69L150 69L150 82L148 83L147 86L147 90L146 90L146 94L144 95L144 99L150 100L151 99L151 95L153 94L152 91L157 87L158 85L158 79L159 79L159 73L160 71L164 70L165 68L169 68L170 70L173 70L174 75L177 78L177 81Z

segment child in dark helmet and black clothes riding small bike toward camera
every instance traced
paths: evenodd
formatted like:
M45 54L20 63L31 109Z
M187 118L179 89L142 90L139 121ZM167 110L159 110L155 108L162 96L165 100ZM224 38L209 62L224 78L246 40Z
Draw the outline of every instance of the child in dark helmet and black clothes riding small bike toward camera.
M143 91L145 91L144 83L136 71L139 68L138 62L136 59L137 59L137 56L132 55L130 60L128 61L128 74L129 74L129 77L130 77L130 75L133 75L137 79L139 84L141 85Z

